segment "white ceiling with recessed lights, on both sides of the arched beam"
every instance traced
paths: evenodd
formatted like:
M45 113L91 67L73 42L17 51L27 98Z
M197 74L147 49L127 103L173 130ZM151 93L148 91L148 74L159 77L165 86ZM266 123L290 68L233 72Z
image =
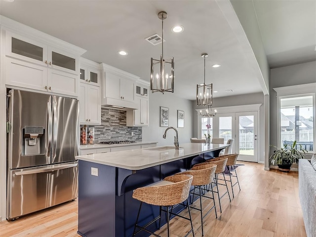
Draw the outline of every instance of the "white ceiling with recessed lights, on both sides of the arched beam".
M254 0L254 7L271 67L316 60L314 0ZM262 78L249 64L253 59L216 0L0 0L1 15L86 49L84 58L148 81L150 58L159 58L161 44L145 38L161 35L161 10L168 13L164 58L175 60L176 96L195 100L196 84L204 79L201 53L209 55L206 83L218 91L214 97L262 92ZM185 31L173 34L176 24ZM215 63L222 66L212 68Z

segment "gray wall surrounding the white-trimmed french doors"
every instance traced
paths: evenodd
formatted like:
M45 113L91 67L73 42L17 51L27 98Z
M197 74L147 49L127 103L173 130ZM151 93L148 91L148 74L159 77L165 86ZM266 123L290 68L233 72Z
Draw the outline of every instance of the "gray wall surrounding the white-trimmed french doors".
M261 103L260 106L260 117L259 117L259 161L264 162L264 149L265 149L265 123L264 121L264 95L263 93L253 93L247 95L220 97L213 99L213 107L226 107L226 106L237 106L246 104L257 104ZM193 108L193 137L197 137L197 111L196 109L203 108L202 106L197 106L196 101L192 101Z

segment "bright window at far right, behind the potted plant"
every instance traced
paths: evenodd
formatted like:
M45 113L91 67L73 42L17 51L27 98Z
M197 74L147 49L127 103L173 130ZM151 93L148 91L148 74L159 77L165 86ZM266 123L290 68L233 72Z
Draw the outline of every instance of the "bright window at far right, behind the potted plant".
M315 118L314 96L292 96L280 98L280 144L292 145L297 141L297 148L313 151Z

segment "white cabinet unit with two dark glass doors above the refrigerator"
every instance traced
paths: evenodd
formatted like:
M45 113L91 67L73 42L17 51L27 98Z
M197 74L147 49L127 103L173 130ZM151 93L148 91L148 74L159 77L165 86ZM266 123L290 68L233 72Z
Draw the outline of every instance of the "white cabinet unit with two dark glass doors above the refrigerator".
M24 28L28 27L21 27ZM85 50L30 29L34 33L33 38L3 27L5 84L30 91L78 97L79 55Z

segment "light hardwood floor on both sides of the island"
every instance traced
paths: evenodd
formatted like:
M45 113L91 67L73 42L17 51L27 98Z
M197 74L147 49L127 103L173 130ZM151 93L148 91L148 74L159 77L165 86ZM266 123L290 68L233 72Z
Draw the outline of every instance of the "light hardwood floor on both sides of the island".
M241 191L234 187L235 199L231 203L226 196L222 199L223 212L217 209L218 219L214 211L205 217L204 237L306 237L298 198L298 173L265 171L261 164L237 163L244 164L237 168ZM206 202L209 200L204 206ZM200 237L199 212L192 209L192 216L196 237ZM14 222L0 222L0 237L79 237L77 225L76 200ZM190 228L188 221L173 218L171 237L185 236ZM166 236L166 227L157 234Z

